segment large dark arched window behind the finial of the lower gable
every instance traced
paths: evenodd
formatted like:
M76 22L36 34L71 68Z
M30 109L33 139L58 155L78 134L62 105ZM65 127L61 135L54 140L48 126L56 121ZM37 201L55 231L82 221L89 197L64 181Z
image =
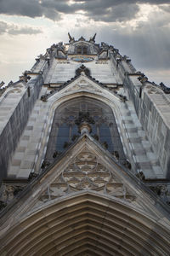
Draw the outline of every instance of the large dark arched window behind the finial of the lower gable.
M116 119L105 103L85 96L65 102L55 110L54 121L48 141L46 160L53 161L55 151L63 152L80 136L77 119L80 113L88 113L92 131L90 133L111 153L116 152L121 162L125 160Z

